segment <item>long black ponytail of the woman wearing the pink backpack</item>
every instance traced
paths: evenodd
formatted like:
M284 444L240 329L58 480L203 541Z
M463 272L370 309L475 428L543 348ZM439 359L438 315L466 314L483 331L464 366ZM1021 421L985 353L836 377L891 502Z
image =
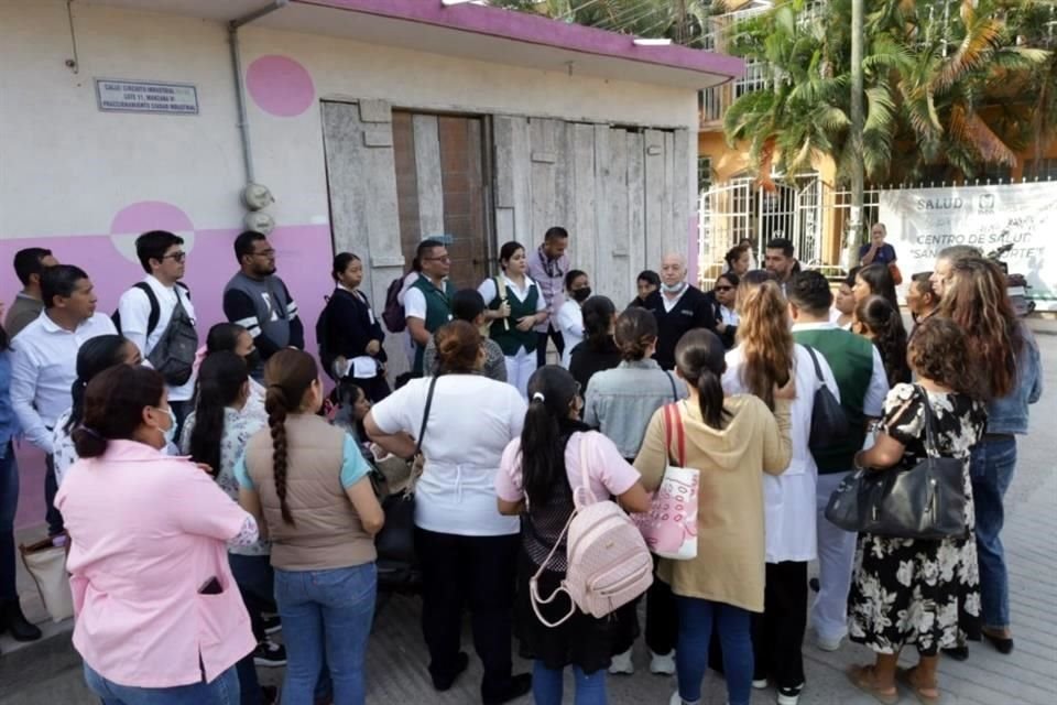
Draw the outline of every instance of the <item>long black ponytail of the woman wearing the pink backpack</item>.
M573 376L557 365L541 367L528 379L528 411L521 431L521 478L525 495L535 506L545 506L556 490L568 488L565 444L575 431L588 429L569 414L578 392Z

